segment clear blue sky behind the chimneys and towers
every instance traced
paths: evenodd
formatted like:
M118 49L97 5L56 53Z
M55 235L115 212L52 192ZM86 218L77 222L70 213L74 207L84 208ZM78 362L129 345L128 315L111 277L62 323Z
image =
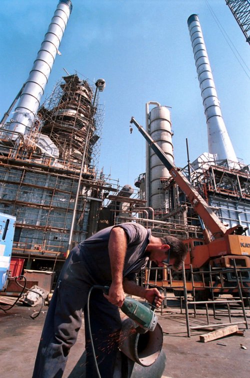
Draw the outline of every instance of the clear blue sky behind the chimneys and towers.
M0 117L27 79L57 3L1 0ZM135 127L129 133L129 120L134 116L145 124L147 101L171 107L177 166L186 164L185 138L191 161L207 151L187 28L193 13L199 17L236 155L250 163L250 47L224 0L72 0L72 5L59 48L62 55L56 57L45 95L65 75L63 67L91 82L105 79L105 91L100 93L105 117L99 160L105 174L111 172L121 185L133 185L145 170L145 141Z

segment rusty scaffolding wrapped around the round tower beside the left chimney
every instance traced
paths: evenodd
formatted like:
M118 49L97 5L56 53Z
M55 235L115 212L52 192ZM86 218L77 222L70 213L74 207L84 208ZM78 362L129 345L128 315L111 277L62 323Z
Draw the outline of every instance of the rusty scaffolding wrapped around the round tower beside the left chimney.
M92 106L93 87L77 75L65 76L42 104L42 133L49 136L59 149L62 160L78 163L88 145L85 166L98 166L103 107ZM95 101L98 104L98 98Z

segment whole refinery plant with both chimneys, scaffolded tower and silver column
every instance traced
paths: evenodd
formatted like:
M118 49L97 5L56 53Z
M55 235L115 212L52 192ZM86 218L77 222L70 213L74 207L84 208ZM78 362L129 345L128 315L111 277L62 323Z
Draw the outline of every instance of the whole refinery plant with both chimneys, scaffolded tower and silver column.
M151 228L155 236L202 239L203 220L147 143L145 172L132 184L120 186L97 170L103 79L92 85L65 72L42 102L70 12L70 0L59 1L29 76L1 120L0 213L16 217L12 257L27 270L59 271L80 241L127 221ZM249 236L249 165L238 161L228 136L197 15L187 24L208 151L178 169L225 227L240 225ZM169 107L147 102L143 126L173 163Z

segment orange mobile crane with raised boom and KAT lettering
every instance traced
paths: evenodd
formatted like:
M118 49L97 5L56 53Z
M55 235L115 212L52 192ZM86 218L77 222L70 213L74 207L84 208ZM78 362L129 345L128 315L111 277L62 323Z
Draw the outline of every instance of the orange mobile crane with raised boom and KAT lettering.
M199 277L198 272L207 271L209 266L221 268L224 271L225 281L232 282L235 278L229 277L226 270L231 268L234 264L233 261L235 261L237 267L245 269L244 278L242 279L244 286L242 291L244 291L245 297L249 297L250 237L242 235L245 229L240 225L227 229L192 184L168 159L160 146L154 142L151 136L139 125L134 117L131 118L130 123L133 123L137 127L150 148L168 169L173 180L186 195L194 211L213 236L213 240L206 238L205 241L202 242L197 239L187 239L183 241L187 246L187 256L184 262L185 270L189 271L191 264L192 268L197 272L197 277Z

